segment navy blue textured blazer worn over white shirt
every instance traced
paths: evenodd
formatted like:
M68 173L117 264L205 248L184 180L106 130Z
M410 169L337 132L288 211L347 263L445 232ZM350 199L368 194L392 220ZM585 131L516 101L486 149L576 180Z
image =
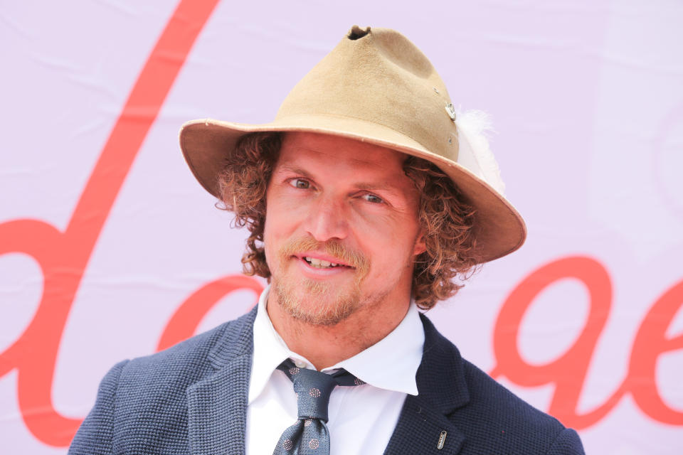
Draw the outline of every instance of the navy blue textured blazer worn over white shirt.
M255 311L115 365L69 454L244 454ZM419 393L406 397L385 454L583 454L573 429L463 360L421 317Z

